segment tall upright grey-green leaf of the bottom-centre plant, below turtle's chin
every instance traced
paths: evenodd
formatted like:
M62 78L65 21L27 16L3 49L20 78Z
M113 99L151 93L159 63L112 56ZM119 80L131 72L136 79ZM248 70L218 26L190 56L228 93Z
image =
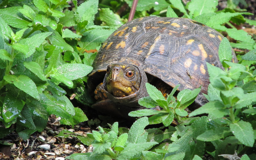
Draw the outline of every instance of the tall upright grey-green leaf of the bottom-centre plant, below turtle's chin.
M148 133L145 132L144 128L147 125L148 125L148 117L142 117L137 121L135 121L128 132L128 142L130 144L146 142Z

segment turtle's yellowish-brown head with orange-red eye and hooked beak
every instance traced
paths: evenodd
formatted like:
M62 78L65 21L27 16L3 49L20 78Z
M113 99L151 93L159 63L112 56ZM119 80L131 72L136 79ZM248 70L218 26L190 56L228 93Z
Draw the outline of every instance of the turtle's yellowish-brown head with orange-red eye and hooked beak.
M126 97L140 89L139 68L130 64L110 64L106 74L106 89L116 97Z

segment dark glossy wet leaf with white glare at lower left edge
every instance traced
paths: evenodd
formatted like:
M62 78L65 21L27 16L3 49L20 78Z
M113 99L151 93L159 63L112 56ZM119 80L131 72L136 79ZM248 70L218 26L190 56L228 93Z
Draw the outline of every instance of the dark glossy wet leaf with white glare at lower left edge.
M4 122L8 123L14 119L16 122L16 118L19 116L23 106L24 103L21 99L19 99L18 95L15 97L11 94L11 92L7 92L3 102L3 109L1 110L1 115L4 118Z

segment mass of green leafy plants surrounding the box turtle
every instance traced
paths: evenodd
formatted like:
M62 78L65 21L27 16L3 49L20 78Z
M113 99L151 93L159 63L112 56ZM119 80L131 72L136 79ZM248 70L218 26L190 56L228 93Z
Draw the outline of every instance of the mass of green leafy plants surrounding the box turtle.
M256 26L256 22L244 18L251 13L236 9L239 2L244 1L229 1L229 7L217 11L218 2L214 0L191 0L186 5L180 0L140 0L135 18L190 18L226 32L235 39L232 47L250 52L241 52L239 63L232 63L230 43L226 38L222 40L219 55L225 70L207 64L211 84L205 97L209 102L189 115L184 109L200 89L181 91L176 100L176 86L165 100L147 84L149 97L140 99L140 105L160 106L163 110L131 112L130 116L141 118L130 130L114 123L111 129L99 127L100 131L86 137L67 130L60 132L60 137L76 137L94 147L90 153L67 158L255 159L256 43L235 24ZM87 93L86 76L92 71L95 49L127 21L126 3L131 7L132 0L0 1L1 138L15 131L26 140L30 134L44 130L51 114L61 117L60 122L66 125L88 120L80 109L82 104L93 103ZM68 99L71 93L76 93L81 105L74 107ZM175 127L170 125L174 118L179 122ZM149 124L163 127L145 129Z

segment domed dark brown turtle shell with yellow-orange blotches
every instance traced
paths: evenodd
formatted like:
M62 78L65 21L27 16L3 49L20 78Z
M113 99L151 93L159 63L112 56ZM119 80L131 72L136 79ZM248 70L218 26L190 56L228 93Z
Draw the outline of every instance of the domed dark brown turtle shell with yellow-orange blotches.
M133 64L172 87L180 84L179 90L202 85L196 99L202 105L206 102L202 93L207 94L209 84L206 62L223 69L218 56L222 38L216 30L186 18L135 19L102 44L90 76L99 75L109 64ZM233 50L232 54L232 61L237 62Z

